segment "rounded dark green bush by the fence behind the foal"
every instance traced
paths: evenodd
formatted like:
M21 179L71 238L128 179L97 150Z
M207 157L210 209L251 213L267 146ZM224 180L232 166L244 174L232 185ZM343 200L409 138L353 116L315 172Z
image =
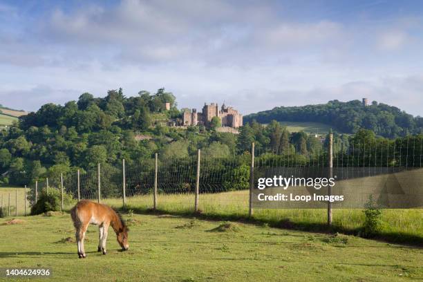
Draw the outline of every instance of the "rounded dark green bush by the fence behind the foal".
M64 193L64 205L69 205L73 201L71 194ZM37 203L31 207L31 214L44 214L45 212L57 212L60 210L62 195L59 189L50 187L48 193L43 189L38 196Z

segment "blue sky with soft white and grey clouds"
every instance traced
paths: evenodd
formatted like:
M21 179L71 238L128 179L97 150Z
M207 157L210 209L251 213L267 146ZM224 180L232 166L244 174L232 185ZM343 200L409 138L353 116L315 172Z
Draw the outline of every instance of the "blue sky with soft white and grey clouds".
M166 88L252 113L368 97L423 115L422 1L0 1L0 104Z

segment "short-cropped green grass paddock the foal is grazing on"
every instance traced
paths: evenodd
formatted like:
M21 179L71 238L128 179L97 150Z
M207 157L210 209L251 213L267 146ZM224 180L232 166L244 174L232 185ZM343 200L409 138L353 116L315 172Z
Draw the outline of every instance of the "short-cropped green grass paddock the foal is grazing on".
M423 279L423 250L415 247L355 236L287 231L267 225L220 226L220 221L179 216L124 217L131 223L129 251L119 251L110 230L108 254L96 252L97 228L91 226L85 244L86 259L77 258L75 232L68 214L21 217L24 222L17 225L7 225L2 218L0 267L53 270L52 279L30 281Z

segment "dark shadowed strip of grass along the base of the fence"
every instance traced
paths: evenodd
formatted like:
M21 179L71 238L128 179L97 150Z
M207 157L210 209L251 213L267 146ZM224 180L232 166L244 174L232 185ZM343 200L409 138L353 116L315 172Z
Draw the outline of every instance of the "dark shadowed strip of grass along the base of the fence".
M257 219L233 214L233 215L224 215L224 214L205 214L203 212L194 212L191 209L185 209L180 211L169 211L169 210L162 210L162 209L147 209L147 208L140 208L140 207L133 207L133 206L126 206L118 209L120 212L125 213L129 210L133 211L135 214L156 214L156 215L163 215L169 214L171 216L180 216L184 218L192 218L195 216L196 218L202 220L214 220L214 221L238 221L241 223L249 223L253 225L263 226L263 224L267 224L269 227L281 228L281 229L292 229L292 230L299 230L299 231L306 231L306 232L319 232L319 233L342 233L346 235L354 235L360 236L361 228L346 228L340 227L337 225L328 226L323 223L306 223L306 222L294 222L289 218L285 218L282 220L265 220L265 219ZM413 247L423 247L423 236L417 236L413 234L406 234L402 232L383 232L382 234L376 234L375 236L368 238L377 241L384 241L387 243L396 243L402 245L408 245Z

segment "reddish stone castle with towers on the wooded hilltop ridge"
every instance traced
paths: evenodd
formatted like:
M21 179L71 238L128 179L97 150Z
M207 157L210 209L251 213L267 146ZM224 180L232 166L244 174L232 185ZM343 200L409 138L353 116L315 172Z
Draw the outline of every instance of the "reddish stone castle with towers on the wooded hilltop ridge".
M192 111L187 109L182 116L182 124L185 126L200 124L209 126L214 117L220 118L222 126L237 128L243 125L243 115L232 106L225 106L225 103L220 110L217 103L204 104L202 113L197 113L196 109L192 109Z

